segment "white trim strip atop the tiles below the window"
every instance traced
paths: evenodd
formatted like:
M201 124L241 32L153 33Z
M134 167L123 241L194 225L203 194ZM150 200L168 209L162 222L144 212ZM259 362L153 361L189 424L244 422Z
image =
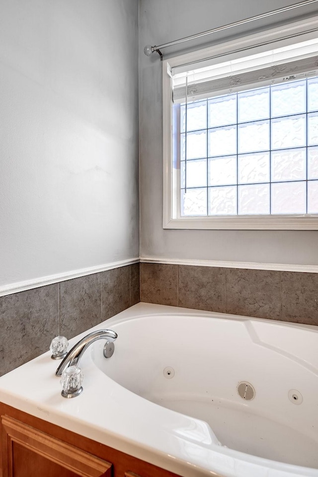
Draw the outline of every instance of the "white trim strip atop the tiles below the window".
M293 265L286 263L230 262L222 260L196 260L184 258L141 257L141 263L169 265L194 265L200 267L246 268L253 270L277 270L282 272L318 273L318 265Z

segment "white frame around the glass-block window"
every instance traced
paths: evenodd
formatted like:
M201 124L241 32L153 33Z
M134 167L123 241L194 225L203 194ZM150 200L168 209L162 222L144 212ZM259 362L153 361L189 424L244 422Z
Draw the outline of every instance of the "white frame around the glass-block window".
M238 51L252 55L271 48L284 47L318 37L318 16L218 44L211 48L187 53L162 62L163 103L163 229L203 230L318 230L318 215L269 216L180 216L180 173L172 168L172 79L171 69L216 58ZM295 38L295 40L293 40ZM239 44L239 48L238 48ZM186 71L186 67L185 67ZM172 174L175 174L172 177Z

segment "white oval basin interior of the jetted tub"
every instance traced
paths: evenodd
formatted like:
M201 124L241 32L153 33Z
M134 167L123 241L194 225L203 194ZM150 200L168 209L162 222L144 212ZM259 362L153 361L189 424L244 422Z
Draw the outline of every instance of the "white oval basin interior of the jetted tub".
M318 333L312 328L189 316L109 327L119 336L114 355L103 358L102 341L91 355L118 384L206 421L231 449L318 468ZM252 385L251 400L239 396L239 383Z

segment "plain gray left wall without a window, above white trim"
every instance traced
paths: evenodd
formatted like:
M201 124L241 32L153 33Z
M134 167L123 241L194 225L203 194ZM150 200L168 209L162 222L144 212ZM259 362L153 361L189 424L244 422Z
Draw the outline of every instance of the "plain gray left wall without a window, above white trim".
M138 0L0 0L0 288L139 257Z

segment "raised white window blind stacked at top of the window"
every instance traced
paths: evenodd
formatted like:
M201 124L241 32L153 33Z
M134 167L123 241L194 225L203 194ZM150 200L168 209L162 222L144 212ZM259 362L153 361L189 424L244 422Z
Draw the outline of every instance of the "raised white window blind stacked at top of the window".
M241 53L242 54L242 53ZM195 68L172 70L174 103L318 75L318 40ZM185 79L187 78L187 94Z

